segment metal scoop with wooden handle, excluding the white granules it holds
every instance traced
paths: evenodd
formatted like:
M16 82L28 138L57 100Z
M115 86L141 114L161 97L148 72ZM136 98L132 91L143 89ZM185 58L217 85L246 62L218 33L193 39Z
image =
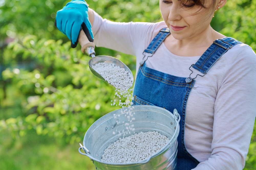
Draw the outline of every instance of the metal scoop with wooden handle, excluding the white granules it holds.
M83 32L83 30L80 31L78 41L82 47L81 48L82 53L86 53L90 57L92 57L89 60L88 64L89 64L91 72L95 76L97 76L101 80L104 80L105 82L107 82L97 71L95 71L92 68L92 66L97 63L100 63L100 62L108 62L108 63L113 63L113 64L115 64L115 66L119 66L120 68L124 68L130 74L131 80L133 80L133 75L132 75L131 70L119 59L111 57L111 56L95 56L95 51L94 51L95 45L94 45L94 43L92 43L88 40L88 38L87 38L86 34Z

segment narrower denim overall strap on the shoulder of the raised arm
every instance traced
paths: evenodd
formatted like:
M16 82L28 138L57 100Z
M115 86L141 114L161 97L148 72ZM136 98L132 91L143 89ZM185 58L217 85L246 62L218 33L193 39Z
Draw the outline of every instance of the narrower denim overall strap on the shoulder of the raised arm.
M151 41L151 43L148 45L148 47L143 51L143 59L140 62L140 65L142 66L144 62L147 60L148 57L152 57L155 51L158 49L158 47L162 44L162 42L165 40L165 38L170 34L170 31L168 28L163 28L159 31L159 33L154 37L154 39Z

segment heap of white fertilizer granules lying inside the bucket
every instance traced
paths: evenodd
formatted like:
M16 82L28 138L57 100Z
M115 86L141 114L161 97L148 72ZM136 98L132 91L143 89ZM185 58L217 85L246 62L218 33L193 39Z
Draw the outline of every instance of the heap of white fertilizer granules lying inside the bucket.
M109 163L142 161L162 149L169 140L165 135L155 131L119 138L104 150L101 161Z

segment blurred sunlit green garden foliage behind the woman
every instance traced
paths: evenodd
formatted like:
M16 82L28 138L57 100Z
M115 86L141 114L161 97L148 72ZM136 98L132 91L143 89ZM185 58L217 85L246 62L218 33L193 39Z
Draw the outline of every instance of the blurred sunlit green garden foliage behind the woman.
M0 0L0 169L95 169L78 153L90 125L112 107L114 88L89 70L88 56L54 26L69 1ZM88 0L103 18L161 21L159 0ZM227 1L211 22L256 51L256 0ZM97 47L135 75L135 56ZM255 129L255 125L254 125ZM254 130L244 169L256 167Z

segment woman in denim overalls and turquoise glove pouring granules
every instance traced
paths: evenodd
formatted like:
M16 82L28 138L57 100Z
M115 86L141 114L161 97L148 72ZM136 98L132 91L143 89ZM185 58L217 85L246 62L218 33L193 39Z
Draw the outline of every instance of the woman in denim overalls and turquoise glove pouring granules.
M178 169L245 165L256 115L256 54L210 26L226 1L160 0L164 21L157 23L112 22L82 0L57 12L56 26L72 47L83 29L96 46L137 57L134 104L178 110Z

